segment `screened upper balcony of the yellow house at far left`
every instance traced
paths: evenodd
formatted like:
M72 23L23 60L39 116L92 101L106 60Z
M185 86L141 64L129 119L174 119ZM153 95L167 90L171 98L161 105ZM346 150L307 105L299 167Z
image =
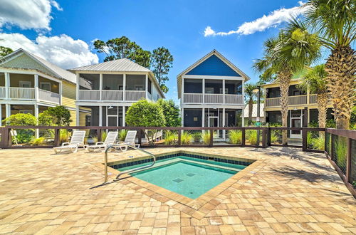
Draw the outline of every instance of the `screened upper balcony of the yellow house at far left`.
M60 83L36 74L0 73L1 100L35 100L59 105Z

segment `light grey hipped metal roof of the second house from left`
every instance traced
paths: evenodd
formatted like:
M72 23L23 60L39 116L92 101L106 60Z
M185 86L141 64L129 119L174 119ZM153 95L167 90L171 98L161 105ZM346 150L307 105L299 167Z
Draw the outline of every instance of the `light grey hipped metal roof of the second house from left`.
M78 68L70 68L69 71L110 71L110 72L146 72L151 71L148 68L140 66L139 64L130 61L127 58L117 59L115 61L107 61L97 63L90 66L82 66Z

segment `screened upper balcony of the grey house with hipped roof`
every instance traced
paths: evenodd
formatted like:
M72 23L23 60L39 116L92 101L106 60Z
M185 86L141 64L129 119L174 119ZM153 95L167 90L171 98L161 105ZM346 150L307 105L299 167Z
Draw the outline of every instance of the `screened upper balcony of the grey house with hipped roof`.
M147 75L80 73L78 101L135 102L152 99L152 84Z

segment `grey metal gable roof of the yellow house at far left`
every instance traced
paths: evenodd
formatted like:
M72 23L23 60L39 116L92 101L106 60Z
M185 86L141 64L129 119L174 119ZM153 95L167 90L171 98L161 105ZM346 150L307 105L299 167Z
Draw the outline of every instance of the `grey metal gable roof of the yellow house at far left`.
M56 78L59 78L62 80L68 80L68 81L70 81L70 83L76 83L76 77L75 77L74 73L66 71L65 69L60 68L60 67L56 66L55 64L48 62L45 59L24 50L23 48L19 48L18 50L14 51L13 53L1 58L0 66L4 66L5 63L11 61L12 59L16 58L17 56L21 56L22 54L25 54L26 56L32 58L33 61L36 61L36 63L39 63L44 68L48 69L48 71L53 73L53 75ZM41 71L41 72L46 73L46 71Z

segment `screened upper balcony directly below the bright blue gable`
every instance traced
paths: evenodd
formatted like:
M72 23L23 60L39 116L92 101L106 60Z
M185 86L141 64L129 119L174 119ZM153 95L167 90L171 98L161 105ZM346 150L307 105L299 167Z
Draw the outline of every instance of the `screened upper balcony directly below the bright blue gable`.
M182 103L244 105L241 80L184 78Z

